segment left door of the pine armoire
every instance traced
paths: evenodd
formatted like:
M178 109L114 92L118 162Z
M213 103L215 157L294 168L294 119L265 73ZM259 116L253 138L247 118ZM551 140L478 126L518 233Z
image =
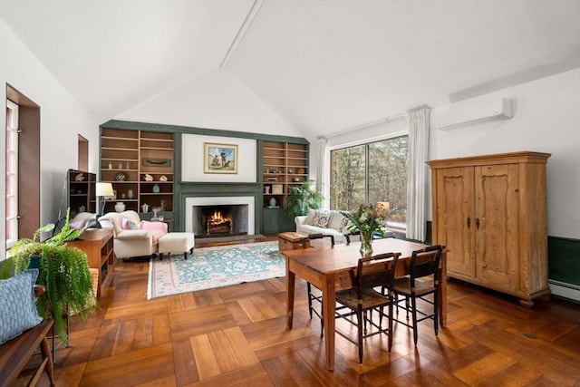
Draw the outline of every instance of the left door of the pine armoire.
M473 168L437 171L437 225L434 240L449 249L447 269L475 276Z

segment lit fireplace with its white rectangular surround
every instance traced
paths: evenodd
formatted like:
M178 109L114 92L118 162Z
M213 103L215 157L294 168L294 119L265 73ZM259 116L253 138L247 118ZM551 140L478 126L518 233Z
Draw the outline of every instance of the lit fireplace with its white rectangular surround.
M185 198L185 230L200 238L254 235L255 201L253 196Z

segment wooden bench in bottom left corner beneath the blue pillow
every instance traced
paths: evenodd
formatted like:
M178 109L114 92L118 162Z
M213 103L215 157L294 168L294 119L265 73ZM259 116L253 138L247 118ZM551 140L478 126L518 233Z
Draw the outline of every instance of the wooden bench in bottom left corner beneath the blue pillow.
M36 294L43 293L36 286L34 287ZM40 379L43 371L48 375L51 386L54 385L54 369L53 369L53 354L51 353L46 334L53 328L53 320L43 320L41 324L24 331L14 339L8 340L0 344L0 387L9 386L18 377L21 372L29 375L29 371L24 370L26 364L30 362L34 355L34 351L40 346L42 361L40 364L32 369L32 377L26 385L34 386Z

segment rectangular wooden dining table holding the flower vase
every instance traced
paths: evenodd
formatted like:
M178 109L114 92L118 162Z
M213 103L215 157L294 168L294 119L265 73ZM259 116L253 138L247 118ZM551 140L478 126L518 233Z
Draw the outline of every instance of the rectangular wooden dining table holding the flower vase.
M284 250L286 258L286 327L292 329L294 316L295 276L303 278L318 287L323 293L324 309L324 352L326 368L334 369L334 313L337 290L353 287L354 272L361 257L360 242L333 247L309 247ZM411 255L414 250L427 247L420 243L396 238L375 239L372 241L373 254L401 253L397 264L396 276L409 274ZM440 260L440 325L447 323L447 275L446 253Z

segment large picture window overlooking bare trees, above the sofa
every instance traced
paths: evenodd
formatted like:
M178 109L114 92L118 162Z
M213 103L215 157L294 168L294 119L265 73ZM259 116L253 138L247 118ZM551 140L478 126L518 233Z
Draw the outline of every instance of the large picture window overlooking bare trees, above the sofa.
M388 227L406 228L409 136L331 150L332 209L390 203Z

